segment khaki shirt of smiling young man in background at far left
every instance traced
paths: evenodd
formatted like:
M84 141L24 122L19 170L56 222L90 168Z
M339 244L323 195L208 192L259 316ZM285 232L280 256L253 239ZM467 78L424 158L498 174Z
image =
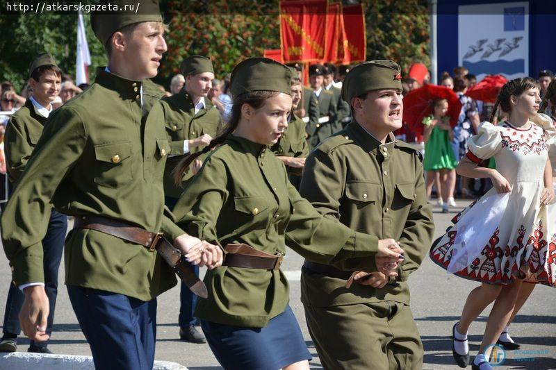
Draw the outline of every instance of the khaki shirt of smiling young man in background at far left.
M46 120L31 99L27 99L24 106L10 117L4 134L4 151L8 178L13 183L22 176Z

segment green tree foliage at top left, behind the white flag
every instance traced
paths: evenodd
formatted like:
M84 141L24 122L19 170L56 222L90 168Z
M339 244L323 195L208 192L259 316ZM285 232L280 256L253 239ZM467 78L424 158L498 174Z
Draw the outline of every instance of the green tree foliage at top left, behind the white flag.
M92 66L106 65L106 56L89 26L89 16L83 16ZM28 79L28 68L38 53L52 54L64 74L75 76L77 15L3 15L0 17L0 78L11 81L21 90ZM90 78L95 68L89 68Z

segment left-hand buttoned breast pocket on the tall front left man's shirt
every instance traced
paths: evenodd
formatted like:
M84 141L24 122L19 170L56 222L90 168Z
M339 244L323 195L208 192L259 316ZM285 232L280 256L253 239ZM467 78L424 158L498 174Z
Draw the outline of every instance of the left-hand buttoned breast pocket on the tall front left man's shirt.
M131 142L111 142L95 145L95 183L119 187L133 179L131 171Z

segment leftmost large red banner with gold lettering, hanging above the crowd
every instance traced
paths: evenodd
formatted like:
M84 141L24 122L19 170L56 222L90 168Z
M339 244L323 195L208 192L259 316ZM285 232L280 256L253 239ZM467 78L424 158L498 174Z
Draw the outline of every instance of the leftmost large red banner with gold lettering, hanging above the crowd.
M325 58L327 6L327 0L280 1L284 62L316 62Z

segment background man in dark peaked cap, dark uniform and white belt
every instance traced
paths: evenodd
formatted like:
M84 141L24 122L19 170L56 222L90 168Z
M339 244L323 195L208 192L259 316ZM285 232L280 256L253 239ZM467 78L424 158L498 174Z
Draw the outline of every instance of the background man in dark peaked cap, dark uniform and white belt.
M316 124L307 125L307 142L311 149L327 137L341 130L336 122L336 103L334 94L324 88L325 67L322 65L311 65L309 67L309 82L313 89L313 96L318 101L319 119Z

